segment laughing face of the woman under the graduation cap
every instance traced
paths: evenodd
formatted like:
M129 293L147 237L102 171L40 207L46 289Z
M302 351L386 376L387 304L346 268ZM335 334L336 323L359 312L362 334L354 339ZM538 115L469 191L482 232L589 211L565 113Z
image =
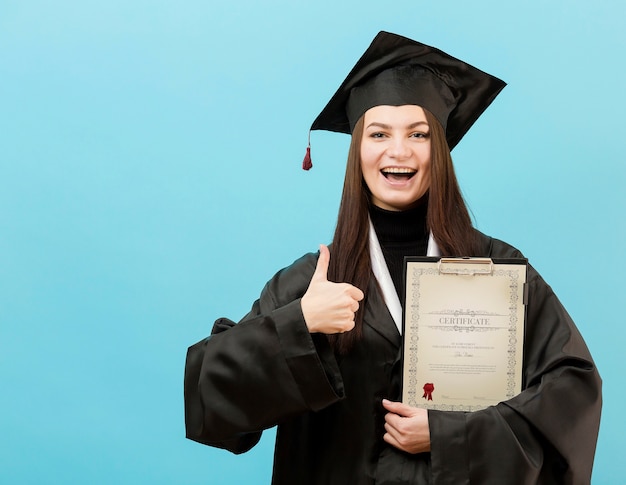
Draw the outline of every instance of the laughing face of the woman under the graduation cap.
M410 209L430 187L430 127L424 110L375 106L363 116L361 170L372 203L386 210Z

